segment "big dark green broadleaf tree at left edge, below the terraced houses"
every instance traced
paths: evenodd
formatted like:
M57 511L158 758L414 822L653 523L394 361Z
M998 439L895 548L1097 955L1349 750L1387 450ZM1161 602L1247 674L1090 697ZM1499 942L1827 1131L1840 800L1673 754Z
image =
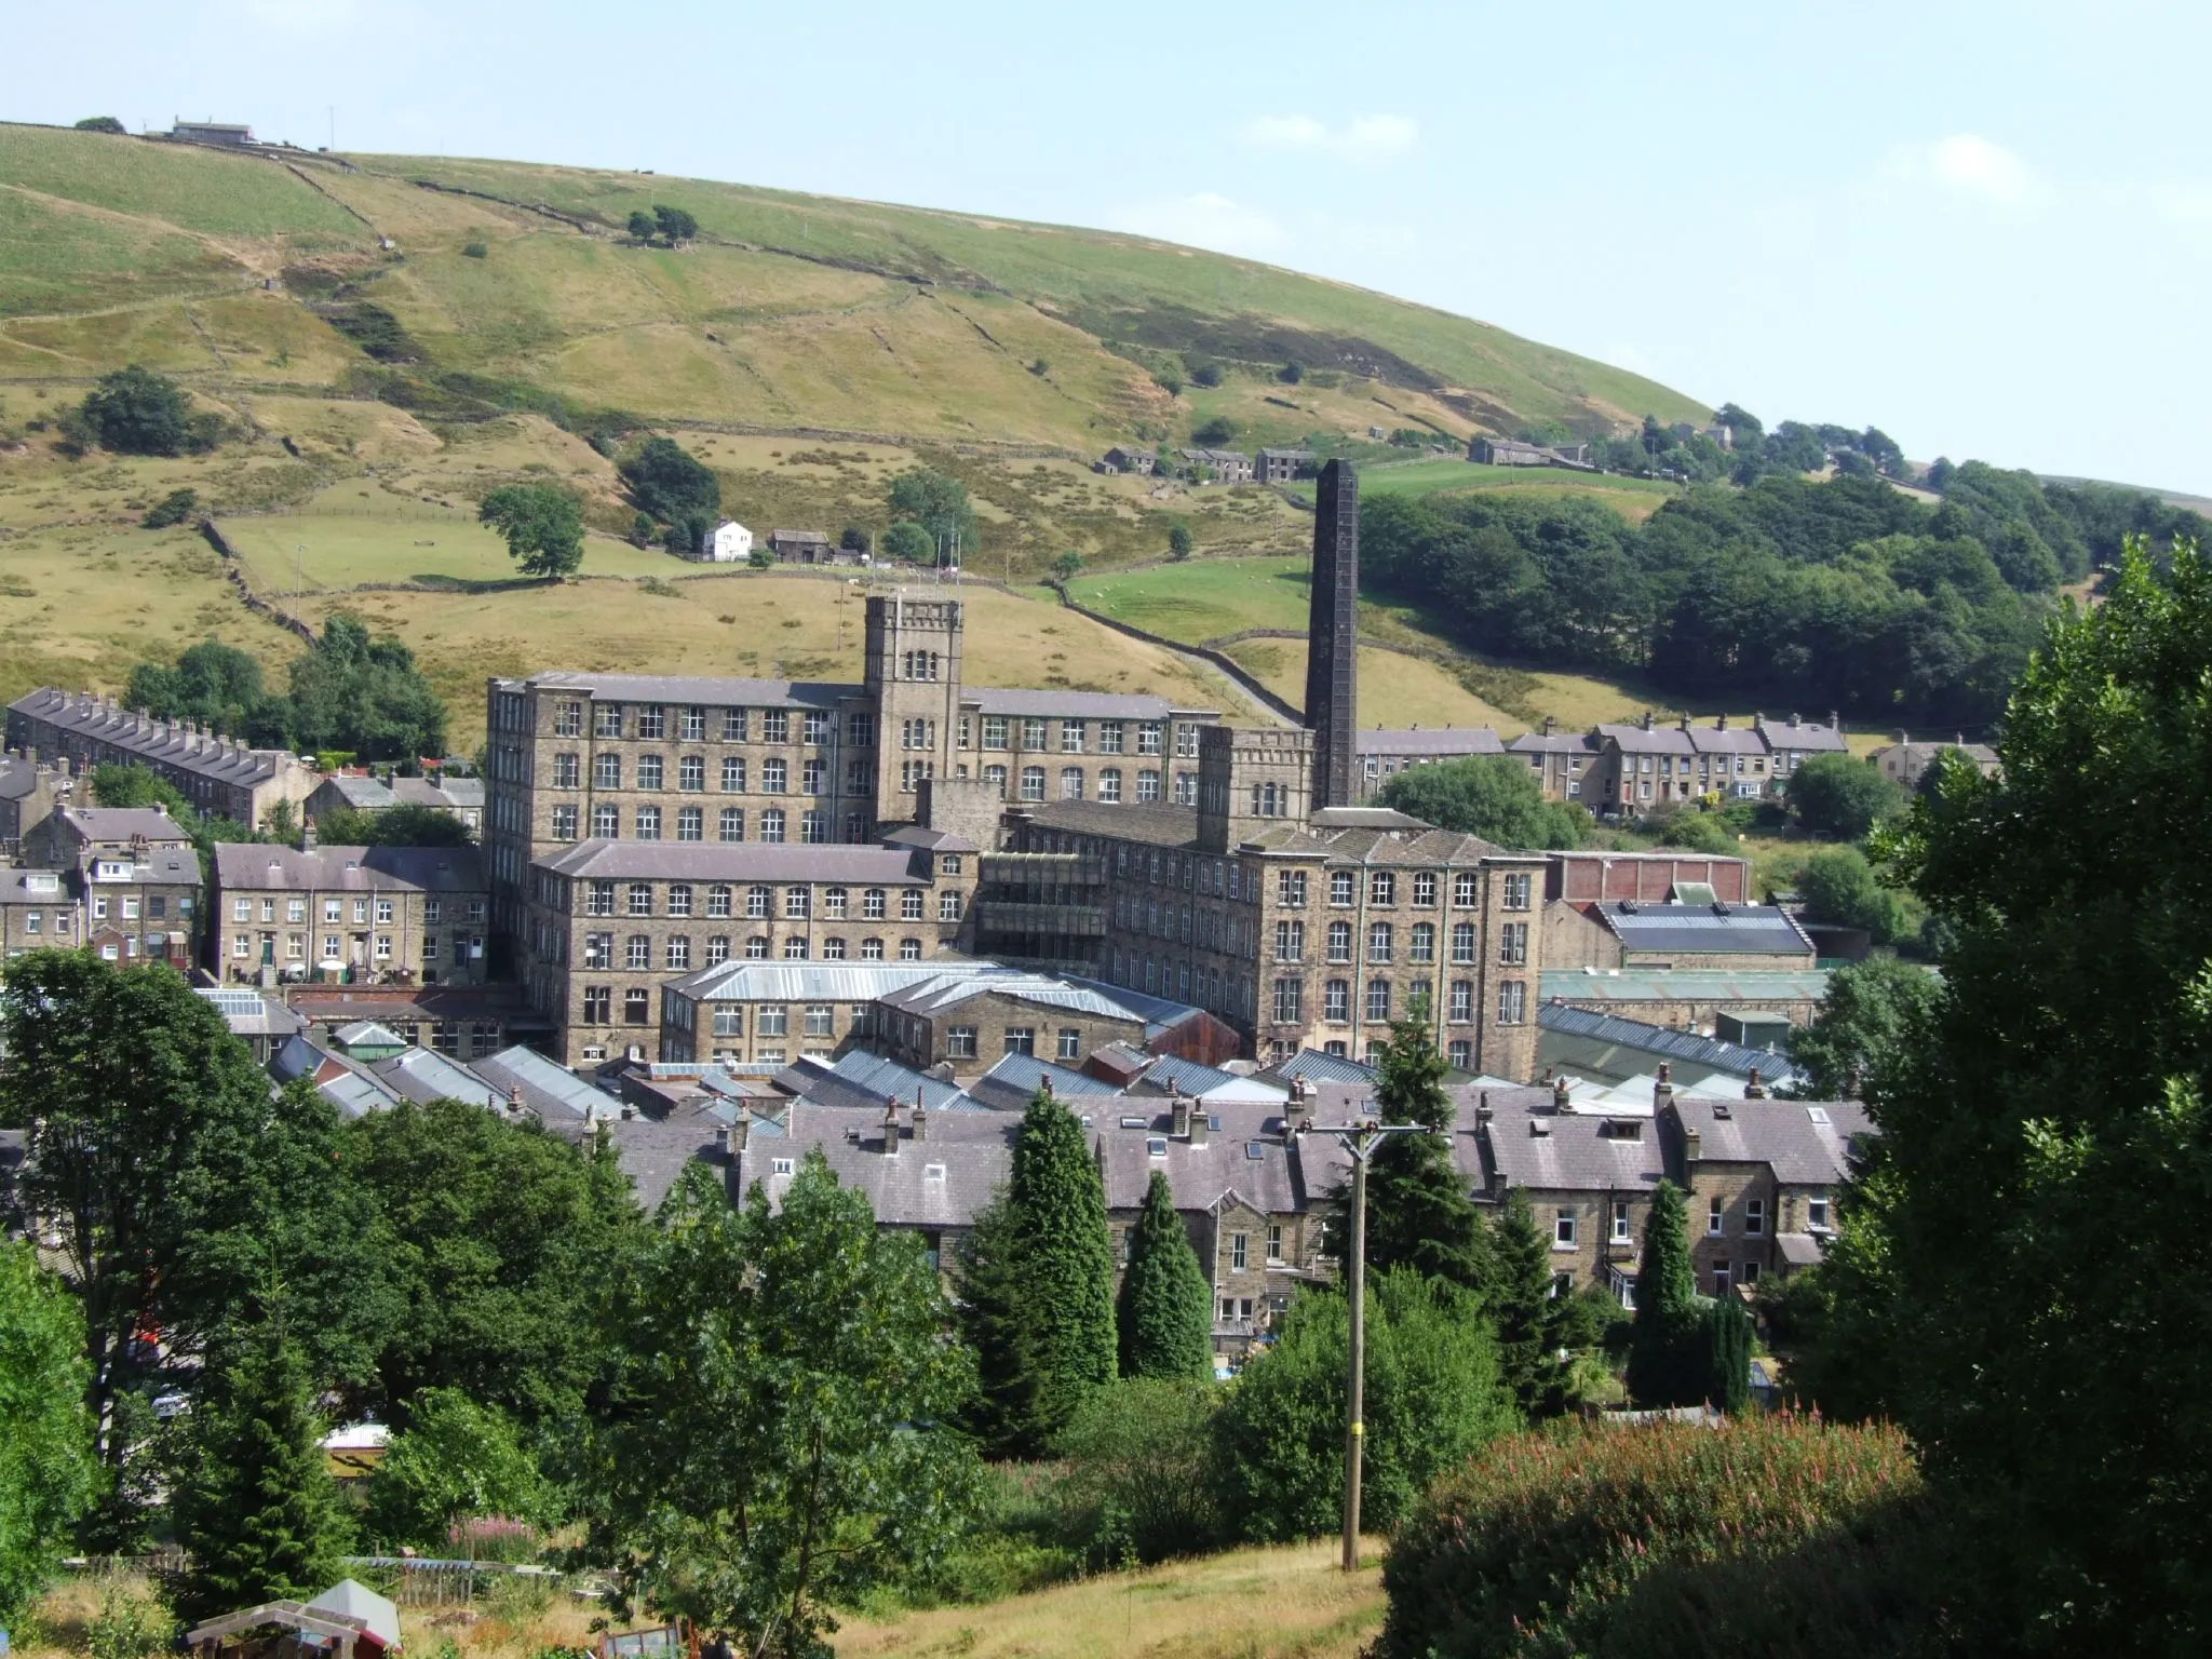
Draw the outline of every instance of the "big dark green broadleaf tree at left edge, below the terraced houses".
M281 1283L319 1380L367 1374L392 1314L374 1212L303 1084L270 1093L223 1015L166 967L29 951L0 991L0 1126L27 1128L18 1199L55 1217L84 1307L86 1407L119 1467L119 1396L199 1360Z

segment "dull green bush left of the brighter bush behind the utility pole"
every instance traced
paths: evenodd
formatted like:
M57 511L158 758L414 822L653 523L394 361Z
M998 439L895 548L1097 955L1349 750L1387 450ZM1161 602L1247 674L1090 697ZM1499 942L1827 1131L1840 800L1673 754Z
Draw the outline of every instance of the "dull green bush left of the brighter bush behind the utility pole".
M1206 1460L1217 1383L1126 1378L1084 1400L1060 1431L1066 1542L1093 1571L1192 1555L1221 1531Z

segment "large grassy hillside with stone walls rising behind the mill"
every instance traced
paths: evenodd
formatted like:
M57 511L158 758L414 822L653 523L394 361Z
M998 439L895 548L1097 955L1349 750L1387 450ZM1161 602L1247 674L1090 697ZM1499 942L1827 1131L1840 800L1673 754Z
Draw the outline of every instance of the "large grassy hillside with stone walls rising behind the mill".
M666 250L619 234L659 201L690 210L701 237ZM398 321L409 361L374 361L334 327L363 303ZM1186 356L1212 358L1221 385L1164 389L1155 372L1172 378ZM1305 376L1285 385L1292 358ZM124 363L175 376L232 438L201 458L71 460L60 414ZM741 591L748 577L695 580L617 540L630 507L606 445L582 436L608 429L608 411L613 429L672 431L759 533L880 531L898 471L953 471L982 531L969 566L1009 582L1071 549L1093 568L1155 560L1177 522L1201 562L1303 562L1312 520L1294 491L1088 469L1128 438L1188 440L1228 418L1248 447L1332 438L1400 462L1374 465L1371 489L1595 489L1639 513L1659 498L1621 480L1405 465L1367 434L1460 442L1535 418L1703 414L1484 323L1141 237L628 173L226 155L0 124L0 695L42 679L113 690L139 655L206 635L272 668L296 653L239 606L206 542L137 529L179 487L217 515L257 591L307 619L352 606L398 628L456 697L465 737L487 666L847 672L832 588ZM595 580L520 584L473 524L487 491L533 478L586 498ZM1281 606L1243 615L1241 595L1223 599L1208 635L1279 622ZM1175 657L1020 604L973 599L978 679L1237 701ZM1296 646L1245 655L1270 684L1301 672ZM1369 708L1387 719L1480 708L1427 664L1371 675Z

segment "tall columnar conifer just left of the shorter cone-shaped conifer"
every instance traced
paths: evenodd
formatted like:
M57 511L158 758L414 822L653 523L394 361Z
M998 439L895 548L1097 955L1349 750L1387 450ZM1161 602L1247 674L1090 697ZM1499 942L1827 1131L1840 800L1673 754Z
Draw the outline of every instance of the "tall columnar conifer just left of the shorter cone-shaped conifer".
M1013 1148L1013 1259L1037 1371L1037 1425L1055 1433L1091 1389L1113 1383L1113 1239L1106 1188L1084 1128L1048 1088Z

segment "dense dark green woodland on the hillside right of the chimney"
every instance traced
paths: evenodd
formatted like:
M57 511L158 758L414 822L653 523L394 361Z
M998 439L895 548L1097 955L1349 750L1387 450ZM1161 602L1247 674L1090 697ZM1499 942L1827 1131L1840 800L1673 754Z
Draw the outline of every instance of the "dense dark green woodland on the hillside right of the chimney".
M2121 538L2203 520L2152 495L1944 465L1927 504L1869 473L1694 484L1644 524L1586 498L1367 502L1363 568L1467 646L1548 668L1641 670L1860 721L1986 726L2059 586Z

